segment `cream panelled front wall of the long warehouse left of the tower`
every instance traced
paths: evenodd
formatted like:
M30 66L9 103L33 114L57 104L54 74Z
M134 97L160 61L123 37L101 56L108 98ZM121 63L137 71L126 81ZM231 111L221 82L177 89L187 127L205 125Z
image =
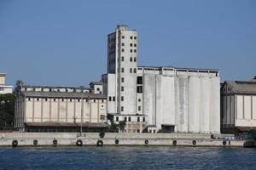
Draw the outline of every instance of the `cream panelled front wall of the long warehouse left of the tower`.
M83 103L83 105L82 105ZM105 122L107 117L106 99L26 99L25 122ZM82 108L81 108L82 107ZM100 120L100 115L105 119Z

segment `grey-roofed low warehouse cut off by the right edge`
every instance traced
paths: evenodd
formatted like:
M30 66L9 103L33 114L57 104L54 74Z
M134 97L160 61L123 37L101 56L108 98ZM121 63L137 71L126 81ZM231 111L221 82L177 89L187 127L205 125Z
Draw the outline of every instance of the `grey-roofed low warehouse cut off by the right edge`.
M226 81L221 87L222 133L256 130L256 77Z

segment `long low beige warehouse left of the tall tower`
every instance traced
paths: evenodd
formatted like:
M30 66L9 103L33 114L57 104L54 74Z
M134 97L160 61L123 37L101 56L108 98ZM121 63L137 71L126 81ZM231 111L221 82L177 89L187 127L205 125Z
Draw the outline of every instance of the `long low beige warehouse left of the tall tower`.
M106 128L106 97L93 92L92 88L20 83L15 99L15 127L26 132L78 132L81 126L84 132Z

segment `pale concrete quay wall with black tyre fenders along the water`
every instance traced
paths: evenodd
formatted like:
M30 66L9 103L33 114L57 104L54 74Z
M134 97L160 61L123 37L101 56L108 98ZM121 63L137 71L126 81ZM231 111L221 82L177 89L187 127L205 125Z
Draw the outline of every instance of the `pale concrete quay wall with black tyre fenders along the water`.
M183 146L243 146L243 140L211 139L210 134L201 133L0 133L0 145L12 146L14 140L18 146L77 145L78 140L84 146L97 145L183 145ZM37 144L35 144L35 140ZM56 140L56 144L54 144ZM117 144L118 143L118 144Z

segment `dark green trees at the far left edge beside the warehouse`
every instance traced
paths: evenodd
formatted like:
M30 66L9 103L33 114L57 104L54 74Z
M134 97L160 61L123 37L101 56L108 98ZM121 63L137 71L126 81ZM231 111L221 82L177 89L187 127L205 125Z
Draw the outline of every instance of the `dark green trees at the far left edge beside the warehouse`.
M12 129L15 122L15 95L0 94L0 129Z

